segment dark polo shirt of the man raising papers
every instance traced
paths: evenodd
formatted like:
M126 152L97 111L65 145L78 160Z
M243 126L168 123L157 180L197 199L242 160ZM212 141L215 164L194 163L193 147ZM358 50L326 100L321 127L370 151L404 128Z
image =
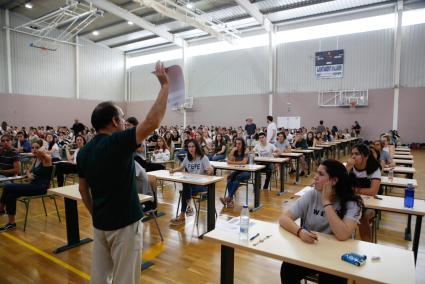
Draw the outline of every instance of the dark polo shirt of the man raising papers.
M78 175L90 187L93 225L99 230L118 230L143 217L134 171L136 148L136 128L131 128L98 134L78 153Z

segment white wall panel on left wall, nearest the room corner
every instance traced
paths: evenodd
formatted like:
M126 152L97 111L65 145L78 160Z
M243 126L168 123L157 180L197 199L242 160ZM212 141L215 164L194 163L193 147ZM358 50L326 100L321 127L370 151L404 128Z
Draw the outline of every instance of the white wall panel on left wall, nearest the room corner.
M81 39L80 98L124 101L124 54Z

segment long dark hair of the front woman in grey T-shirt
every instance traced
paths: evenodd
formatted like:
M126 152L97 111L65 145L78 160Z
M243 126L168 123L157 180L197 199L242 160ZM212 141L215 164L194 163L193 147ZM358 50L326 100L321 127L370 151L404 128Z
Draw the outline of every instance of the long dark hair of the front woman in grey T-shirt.
M326 168L326 172L330 178L338 179L334 187L335 195L341 205L341 209L337 212L339 218L343 219L345 213L347 213L347 202L349 201L355 202L357 206L360 207L360 214L361 208L363 208L363 200L360 196L355 194L353 180L350 179L344 165L341 162L332 159L324 160L321 162L321 165Z

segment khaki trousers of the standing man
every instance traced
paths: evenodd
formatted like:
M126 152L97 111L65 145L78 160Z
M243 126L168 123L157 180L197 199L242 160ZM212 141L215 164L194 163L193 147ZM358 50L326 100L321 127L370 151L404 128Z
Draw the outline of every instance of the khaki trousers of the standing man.
M94 229L93 284L139 284L143 223L137 221L115 231Z

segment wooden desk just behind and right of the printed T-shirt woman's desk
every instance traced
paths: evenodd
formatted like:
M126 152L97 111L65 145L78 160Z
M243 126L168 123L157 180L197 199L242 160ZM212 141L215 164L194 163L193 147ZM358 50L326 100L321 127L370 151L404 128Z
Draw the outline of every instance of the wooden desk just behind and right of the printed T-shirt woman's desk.
M216 169L220 170L230 170L230 171L241 171L241 172L253 172L254 173L254 206L251 211L256 211L263 207L260 202L260 192L261 192L261 170L266 166L264 165L230 165L227 162L214 162L210 161L211 167L214 168L214 173ZM248 191L246 192L248 196ZM248 198L247 198L248 202ZM248 204L247 204L248 205Z

